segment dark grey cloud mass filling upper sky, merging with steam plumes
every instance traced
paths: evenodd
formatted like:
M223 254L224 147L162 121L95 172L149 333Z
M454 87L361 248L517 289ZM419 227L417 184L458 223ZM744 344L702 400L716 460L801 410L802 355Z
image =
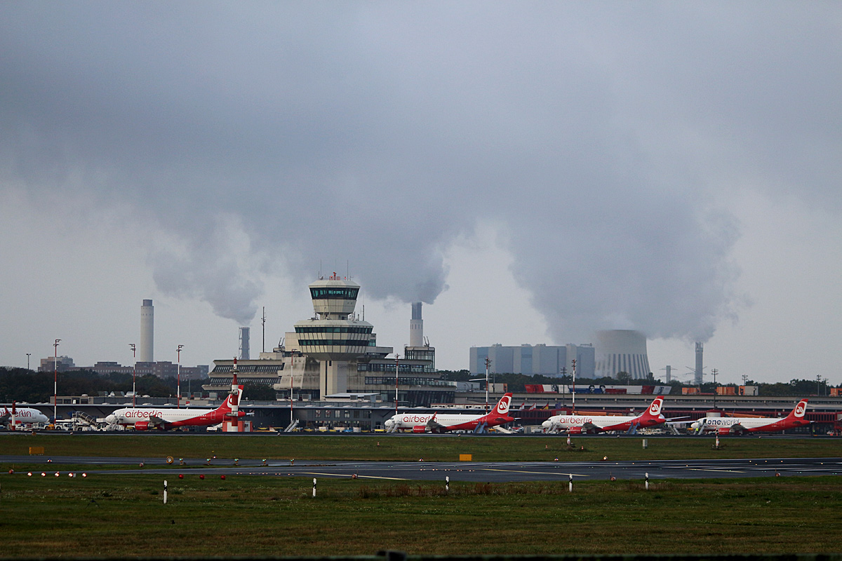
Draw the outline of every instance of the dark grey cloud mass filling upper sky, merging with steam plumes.
M741 302L715 193L839 207L832 4L0 11L0 178L96 177L184 241L153 252L159 286L241 322L264 288L221 212L300 282L349 262L371 296L428 303L450 241L499 220L559 340L706 339Z

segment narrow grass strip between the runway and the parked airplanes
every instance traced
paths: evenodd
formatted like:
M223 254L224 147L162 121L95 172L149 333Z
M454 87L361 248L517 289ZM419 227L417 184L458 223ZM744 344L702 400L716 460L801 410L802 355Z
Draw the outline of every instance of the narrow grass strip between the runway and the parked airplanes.
M647 438L573 437L425 437L417 436L276 436L276 435L0 435L3 454L25 455L42 446L46 456L131 456L141 458L270 458L311 460L456 461L611 461L695 458L818 458L842 456L842 440L832 438ZM581 447L584 446L584 451ZM8 470L6 468L5 470Z

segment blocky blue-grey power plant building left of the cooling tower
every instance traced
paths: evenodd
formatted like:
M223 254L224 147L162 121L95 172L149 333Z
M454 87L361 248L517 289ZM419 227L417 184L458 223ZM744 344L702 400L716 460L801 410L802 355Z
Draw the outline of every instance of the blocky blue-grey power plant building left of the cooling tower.
M520 347L471 347L470 371L485 374L488 359L489 373L513 373L534 376L560 377L573 373L576 360L576 375L594 377L594 347L590 345L520 345Z

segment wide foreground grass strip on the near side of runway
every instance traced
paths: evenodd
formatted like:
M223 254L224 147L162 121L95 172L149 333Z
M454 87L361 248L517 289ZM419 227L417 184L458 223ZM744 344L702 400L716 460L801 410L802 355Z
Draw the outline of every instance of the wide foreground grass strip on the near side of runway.
M512 484L0 476L22 557L831 553L842 478Z

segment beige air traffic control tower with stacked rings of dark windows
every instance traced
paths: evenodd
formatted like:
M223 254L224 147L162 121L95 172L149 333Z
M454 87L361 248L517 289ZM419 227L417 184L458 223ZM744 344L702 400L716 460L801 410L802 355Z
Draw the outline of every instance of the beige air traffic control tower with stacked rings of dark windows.
M301 352L319 363L324 399L348 391L349 362L365 354L374 325L354 315L360 285L340 278L319 278L310 285L316 317L296 323Z

